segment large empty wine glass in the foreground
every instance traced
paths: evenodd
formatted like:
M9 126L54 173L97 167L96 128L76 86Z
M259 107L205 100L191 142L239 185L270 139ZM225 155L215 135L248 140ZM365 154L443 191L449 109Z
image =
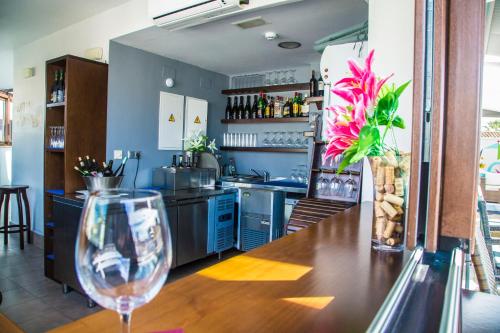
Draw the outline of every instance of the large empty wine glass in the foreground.
M168 219L159 192L104 190L85 202L76 273L87 295L118 312L130 332L132 311L153 299L172 263Z

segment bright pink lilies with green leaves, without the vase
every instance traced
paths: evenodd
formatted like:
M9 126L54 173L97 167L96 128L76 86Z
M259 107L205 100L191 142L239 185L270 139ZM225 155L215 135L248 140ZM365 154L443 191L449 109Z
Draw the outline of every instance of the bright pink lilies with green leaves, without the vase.
M339 173L367 156L383 156L388 151L399 156L394 128L404 129L405 123L397 114L398 101L411 81L396 87L387 84L392 75L377 78L372 71L373 55L374 50L366 58L364 67L348 61L351 75L332 88L332 93L345 103L326 108L334 116L328 120L328 145L323 158L328 160L342 155ZM394 146L386 143L389 134Z

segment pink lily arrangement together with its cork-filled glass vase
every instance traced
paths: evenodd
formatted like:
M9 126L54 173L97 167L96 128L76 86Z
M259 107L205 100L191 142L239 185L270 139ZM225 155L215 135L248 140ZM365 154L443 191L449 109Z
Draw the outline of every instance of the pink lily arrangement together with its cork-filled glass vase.
M389 85L392 75L378 78L372 71L374 51L364 66L348 61L351 75L334 84L342 104L326 108L333 114L327 125L325 160L342 157L338 172L367 158L374 183L372 242L380 250L402 250L409 153L398 149L395 128L404 129L398 115L399 97L411 81Z

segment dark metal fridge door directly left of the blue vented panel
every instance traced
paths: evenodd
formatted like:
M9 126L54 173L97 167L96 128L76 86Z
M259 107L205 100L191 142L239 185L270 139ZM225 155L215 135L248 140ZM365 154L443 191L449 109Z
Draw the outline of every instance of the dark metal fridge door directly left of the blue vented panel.
M207 256L208 198L177 201L177 266Z

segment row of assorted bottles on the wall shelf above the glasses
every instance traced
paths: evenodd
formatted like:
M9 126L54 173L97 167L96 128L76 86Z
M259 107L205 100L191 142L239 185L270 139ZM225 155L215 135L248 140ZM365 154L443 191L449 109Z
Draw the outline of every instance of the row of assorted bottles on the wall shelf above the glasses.
M262 119L262 118L288 118L307 117L309 115L309 105L302 94L295 93L293 98L282 96L268 97L261 92L259 96L254 95L253 104L251 96L247 96L246 103L244 96L227 98L226 119Z

